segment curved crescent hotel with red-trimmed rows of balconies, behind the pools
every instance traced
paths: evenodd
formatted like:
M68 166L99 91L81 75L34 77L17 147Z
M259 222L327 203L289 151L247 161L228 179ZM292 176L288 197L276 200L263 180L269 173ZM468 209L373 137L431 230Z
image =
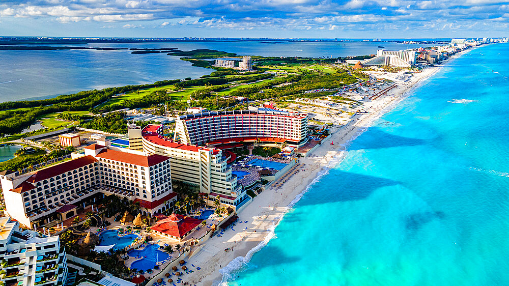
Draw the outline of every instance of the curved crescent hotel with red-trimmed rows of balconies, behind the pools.
M260 141L302 146L307 115L270 108L195 113L177 118L174 139L188 145Z

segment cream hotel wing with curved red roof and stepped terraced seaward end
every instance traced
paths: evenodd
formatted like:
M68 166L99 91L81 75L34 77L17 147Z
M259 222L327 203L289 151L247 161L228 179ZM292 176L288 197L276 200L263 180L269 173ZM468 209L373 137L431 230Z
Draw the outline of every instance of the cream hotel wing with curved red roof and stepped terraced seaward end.
M170 157L172 180L186 183L200 193L208 205L220 196L225 206L240 207L249 201L243 187L232 176L227 158L216 148L187 145L166 138L163 125L148 125L142 130L143 150Z

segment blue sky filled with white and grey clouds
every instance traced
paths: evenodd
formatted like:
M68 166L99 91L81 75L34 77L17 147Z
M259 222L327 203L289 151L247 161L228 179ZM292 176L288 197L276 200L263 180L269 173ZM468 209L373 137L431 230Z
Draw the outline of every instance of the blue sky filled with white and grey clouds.
M509 36L497 0L0 0L2 36Z

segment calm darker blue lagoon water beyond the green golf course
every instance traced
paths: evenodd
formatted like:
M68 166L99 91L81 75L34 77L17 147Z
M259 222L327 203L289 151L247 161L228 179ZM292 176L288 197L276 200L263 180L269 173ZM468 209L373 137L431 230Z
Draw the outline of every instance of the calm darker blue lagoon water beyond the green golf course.
M394 42L175 42L88 44L88 47L215 49L243 55L347 56L376 53L377 46L405 49ZM83 46L83 45L65 45ZM193 67L166 53L127 50L0 50L0 102L49 98L83 90L197 78L213 70Z

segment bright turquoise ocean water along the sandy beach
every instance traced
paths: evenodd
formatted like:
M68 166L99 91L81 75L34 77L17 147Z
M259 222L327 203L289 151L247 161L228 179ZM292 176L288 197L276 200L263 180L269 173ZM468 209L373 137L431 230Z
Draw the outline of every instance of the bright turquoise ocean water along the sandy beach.
M507 51L470 50L420 83L222 270L228 284L509 285Z

